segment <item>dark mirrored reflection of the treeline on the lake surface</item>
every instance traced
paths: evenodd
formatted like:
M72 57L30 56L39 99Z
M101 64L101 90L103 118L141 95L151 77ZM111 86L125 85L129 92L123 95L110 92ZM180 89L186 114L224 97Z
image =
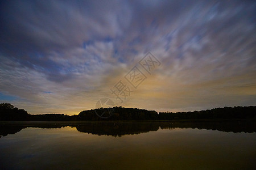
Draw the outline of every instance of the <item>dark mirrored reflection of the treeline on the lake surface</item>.
M0 138L15 134L24 128L63 128L71 126L77 131L88 134L112 135L122 137L128 134L147 133L160 129L192 128L218 130L233 133L256 132L255 120L239 121L175 121L175 122L0 122Z

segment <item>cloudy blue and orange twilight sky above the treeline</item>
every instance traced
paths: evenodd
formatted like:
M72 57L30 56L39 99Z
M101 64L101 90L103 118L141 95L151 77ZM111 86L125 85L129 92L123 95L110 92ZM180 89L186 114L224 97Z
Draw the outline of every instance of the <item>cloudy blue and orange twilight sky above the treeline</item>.
M0 61L30 114L255 105L256 2L1 1Z

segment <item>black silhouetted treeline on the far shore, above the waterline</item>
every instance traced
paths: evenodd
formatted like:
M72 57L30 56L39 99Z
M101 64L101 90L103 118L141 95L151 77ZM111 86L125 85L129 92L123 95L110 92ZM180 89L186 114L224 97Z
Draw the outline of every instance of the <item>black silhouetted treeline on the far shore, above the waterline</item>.
M97 113L97 114L96 114ZM102 117L108 118L102 118ZM137 108L100 108L82 111L78 115L28 114L9 103L0 104L0 121L173 121L173 120L218 120L256 118L256 107L224 107L194 112L155 112Z

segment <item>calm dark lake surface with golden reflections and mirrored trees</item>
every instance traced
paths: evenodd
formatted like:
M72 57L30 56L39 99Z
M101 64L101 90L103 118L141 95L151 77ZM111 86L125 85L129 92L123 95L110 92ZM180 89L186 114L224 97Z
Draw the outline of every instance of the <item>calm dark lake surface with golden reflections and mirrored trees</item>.
M255 169L233 122L0 122L0 169Z

